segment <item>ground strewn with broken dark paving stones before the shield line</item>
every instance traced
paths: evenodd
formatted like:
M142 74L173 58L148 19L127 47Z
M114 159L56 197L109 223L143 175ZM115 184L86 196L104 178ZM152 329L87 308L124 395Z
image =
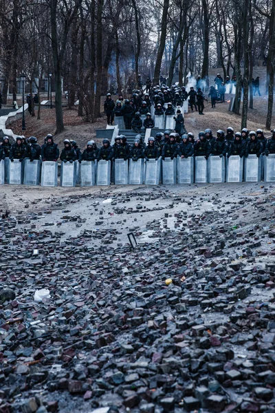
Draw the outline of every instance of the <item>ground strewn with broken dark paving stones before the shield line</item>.
M266 182L1 186L0 413L275 413L274 206Z

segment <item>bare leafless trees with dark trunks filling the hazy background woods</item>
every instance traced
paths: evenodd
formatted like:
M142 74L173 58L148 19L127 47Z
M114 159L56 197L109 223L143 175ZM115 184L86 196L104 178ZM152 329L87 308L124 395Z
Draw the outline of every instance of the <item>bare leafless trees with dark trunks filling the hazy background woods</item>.
M253 67L266 67L267 119L272 123L275 0L0 0L3 103L14 100L21 72L38 94L53 73L56 133L63 131L63 90L79 100L88 122L100 116L100 96L128 94L149 77L184 85L211 83L210 68L236 76L234 112L242 127L253 108ZM250 94L249 94L250 90ZM32 93L32 87L30 93ZM249 98L250 96L250 98ZM39 99L40 100L40 99ZM34 115L34 112L33 112ZM40 116L40 112L39 112Z

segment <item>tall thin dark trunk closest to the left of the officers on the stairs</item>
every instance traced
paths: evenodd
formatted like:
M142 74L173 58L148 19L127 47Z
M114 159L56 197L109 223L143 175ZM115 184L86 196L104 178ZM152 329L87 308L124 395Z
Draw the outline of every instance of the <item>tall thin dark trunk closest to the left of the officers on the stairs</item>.
M101 87L102 87L102 7L103 0L98 0L98 10L96 13L96 101L95 101L95 117L100 116L100 103L101 103Z

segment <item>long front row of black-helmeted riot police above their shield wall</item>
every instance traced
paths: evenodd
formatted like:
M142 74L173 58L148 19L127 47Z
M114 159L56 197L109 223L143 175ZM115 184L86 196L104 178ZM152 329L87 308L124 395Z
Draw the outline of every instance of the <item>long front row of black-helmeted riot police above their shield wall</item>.
M4 136L0 145L0 160L9 158L11 162L19 159L22 162L25 158L42 161L57 161L60 158L63 162L82 162L83 160L112 160L124 159L137 161L138 159L157 160L160 156L165 158L188 158L189 156L204 156L206 159L210 155L230 157L239 155L241 158L248 157L249 154L262 154L268 156L275 153L275 129L270 138L265 138L262 129L248 131L243 128L241 132L234 133L232 127L228 127L226 133L219 129L217 136L212 134L211 129L199 132L195 139L194 134L182 134L166 130L164 133L157 132L155 137L148 138L148 143L142 140L142 136L137 134L133 145L129 145L124 135L116 136L115 142L111 145L108 139L102 141L102 146L98 147L94 140L87 142L87 147L82 152L76 140L64 140L64 148L60 151L54 142L52 135L45 137L45 142L40 146L34 136L26 139L24 136L17 136L14 144L10 143L8 136Z

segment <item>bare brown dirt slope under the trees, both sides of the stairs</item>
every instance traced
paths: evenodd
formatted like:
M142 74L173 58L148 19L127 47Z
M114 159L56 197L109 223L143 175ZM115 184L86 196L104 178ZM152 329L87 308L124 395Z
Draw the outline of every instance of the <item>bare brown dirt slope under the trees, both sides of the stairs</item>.
M221 69L210 70L210 84L214 83L214 76L220 72ZM265 67L254 67L254 77L260 76L261 96L254 96L254 109L249 109L248 112L248 129L261 128L265 131L265 136L270 136L270 131L265 129L265 119L267 114L267 95L265 94ZM231 126L234 131L241 129L241 116L229 112L228 107L230 103L230 97L233 95L225 95L225 103L217 103L216 108L211 108L211 103L208 101L205 103L204 116L200 116L198 112L188 112L185 115L185 126L187 131L192 131L193 134L198 134L199 131L206 128L212 129L215 133L218 129L225 130ZM206 96L207 97L207 96ZM76 139L81 149L84 149L87 140L96 138L96 129L104 129L107 125L106 116L103 113L104 96L101 98L101 117L96 120L96 123L84 123L83 119L78 116L77 109L64 109L64 123L65 131L62 134L56 136L55 141L61 144L64 139ZM190 110L190 109L189 109ZM274 125L273 125L274 126ZM43 143L43 138L47 134L54 134L55 126L55 112L54 109L43 109L41 111L41 120L37 120L36 117L32 118L27 115L26 117L25 136L36 136L39 139L39 143ZM10 128L14 131L14 134L22 134L21 120L10 125Z

